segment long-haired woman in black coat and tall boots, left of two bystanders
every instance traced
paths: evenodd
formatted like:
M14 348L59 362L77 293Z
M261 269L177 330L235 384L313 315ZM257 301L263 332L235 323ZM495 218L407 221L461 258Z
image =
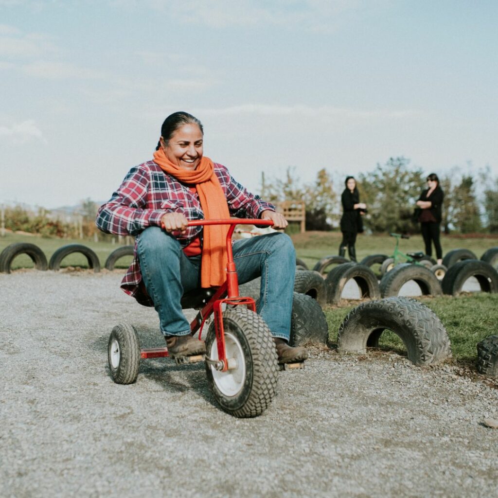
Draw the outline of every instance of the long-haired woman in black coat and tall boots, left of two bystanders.
M339 246L339 255L344 257L346 248L348 248L349 258L351 261L356 262L356 235L358 232L363 232L362 214L366 212L367 205L360 202L360 194L356 188L356 180L353 176L348 176L344 183L346 184L346 188L341 195L343 205L341 232L343 240Z

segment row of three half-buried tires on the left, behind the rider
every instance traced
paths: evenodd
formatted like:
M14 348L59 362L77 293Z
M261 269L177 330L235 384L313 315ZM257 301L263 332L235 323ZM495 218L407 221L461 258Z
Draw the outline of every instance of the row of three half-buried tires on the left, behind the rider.
M0 253L0 272L10 273L12 261L14 258L20 254L28 255L33 261L35 268L37 270L59 270L61 267L62 260L65 259L69 254L80 253L83 254L88 262L88 267L93 269L95 272L100 271L100 261L99 257L94 250L82 244L67 244L57 249L50 260L47 262L47 258L44 252L35 244L29 243L15 243L10 244ZM123 256L132 256L133 246L123 246L109 254L106 259L105 267L108 270L113 270L116 261Z

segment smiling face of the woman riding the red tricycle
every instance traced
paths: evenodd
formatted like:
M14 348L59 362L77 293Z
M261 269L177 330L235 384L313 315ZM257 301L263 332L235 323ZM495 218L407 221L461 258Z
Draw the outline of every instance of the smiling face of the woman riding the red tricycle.
M184 124L178 128L167 145L162 136L160 142L166 157L182 169L194 170L201 162L203 135L197 124Z

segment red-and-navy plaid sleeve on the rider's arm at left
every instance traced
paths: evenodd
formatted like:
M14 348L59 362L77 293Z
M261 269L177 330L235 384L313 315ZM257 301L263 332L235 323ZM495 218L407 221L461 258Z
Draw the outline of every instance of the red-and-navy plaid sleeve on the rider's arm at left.
M147 209L148 189L147 172L131 168L119 189L100 207L97 227L106 234L135 236L149 226L160 226L166 210Z

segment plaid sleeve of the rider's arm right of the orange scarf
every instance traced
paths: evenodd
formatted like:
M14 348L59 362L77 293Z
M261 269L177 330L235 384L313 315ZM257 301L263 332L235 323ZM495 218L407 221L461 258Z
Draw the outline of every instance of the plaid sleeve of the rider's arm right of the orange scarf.
M259 218L266 210L275 211L275 206L260 199L258 195L251 194L229 173L228 169L215 164L220 183L226 191L230 213L238 218Z

